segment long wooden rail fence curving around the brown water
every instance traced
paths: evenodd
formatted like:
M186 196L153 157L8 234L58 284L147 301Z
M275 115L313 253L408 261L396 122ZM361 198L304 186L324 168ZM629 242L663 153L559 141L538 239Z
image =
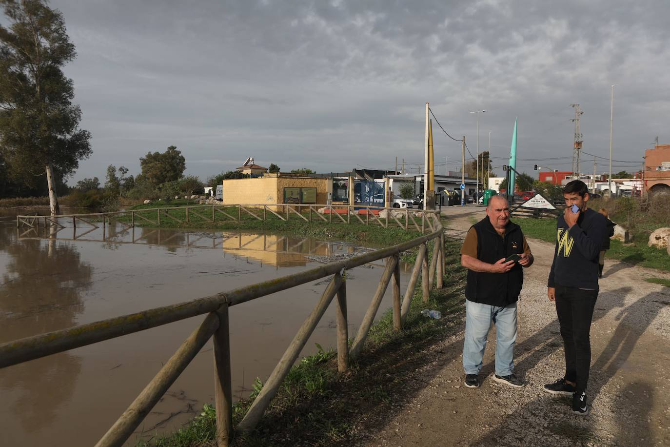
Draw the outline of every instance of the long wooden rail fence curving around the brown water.
M245 211L252 214L255 218L263 220L267 216L267 205L263 206L263 218L259 214L255 214L251 209L254 205L236 205L238 216L232 216L230 212L226 211L224 214L228 218L234 220L241 219L242 212ZM289 215L297 214L305 220L312 219L312 207L309 209L309 219L303 209L295 209L300 205L285 205L277 204L276 209L285 208L285 214L279 214L274 210L271 212L279 216L282 220L287 220ZM119 316L116 318L109 318L89 324L82 324L63 330L56 330L46 334L40 334L12 342L0 344L0 368L10 367L19 363L27 362L47 355L62 353L66 350L94 344L103 340L109 340L139 332L141 330L154 328L163 324L184 320L193 316L206 314L204 321L192 334L182 343L180 348L174 355L163 365L161 370L153 377L151 382L141 391L135 401L123 412L121 417L113 424L107 431L105 436L96 444L98 447L103 446L121 446L133 434L134 430L141 424L142 420L147 416L151 408L163 397L163 394L170 388L172 383L176 381L179 375L186 369L190 361L194 359L196 354L200 351L202 346L212 338L214 341L214 396L216 405L216 441L219 446L228 446L232 440L232 390L230 377L230 334L228 330L229 309L231 306L243 304L245 302L255 300L279 292L293 288L296 285L301 285L317 279L330 276L330 282L323 292L318 304L310 313L308 318L299 328L293 340L289 344L285 353L275 366L275 369L263 385L260 393L254 399L249 411L243 420L237 426L237 430L249 431L253 430L258 422L261 420L263 413L269 406L271 399L276 395L279 387L289 373L291 366L297 360L302 348L304 348L308 338L316 328L318 322L324 316L326 309L330 302L335 299L336 302L336 338L337 338L337 353L338 353L338 371L344 372L348 369L351 359L360 355L368 332L373 324L375 315L379 310L382 298L391 284L393 291L393 328L395 330L402 330L403 322L409 312L411 300L415 291L419 275L421 275L422 298L424 302L428 300L429 290L436 282L438 288L442 288L442 277L444 274L444 232L440 223L439 213L431 210L397 210L397 208L376 208L372 206L353 207L342 206L340 208L347 208L347 218L341 216L337 210L338 206L324 206L331 211L330 220L332 221L332 214L336 214L341 223L351 222L351 216L354 215L362 223L370 223L369 219L372 212L376 210L387 210L384 219L375 216L377 224L387 227L389 225L389 215L395 220L399 227L404 229L409 228L409 222L418 231L423 231L429 228L429 234L422 235L411 241L393 245L370 253L364 253L356 257L347 259L346 261L339 261L320 265L307 271L286 275L269 281L263 281L252 285L247 285L243 288L237 288L227 292L221 292L213 296L205 298L198 298L172 306L163 306ZM197 208L199 211L202 207ZM209 208L209 206L206 206ZM356 213L358 209L366 210L365 220L360 218ZM175 208L172 208L175 209ZM157 211L156 211L157 210ZM254 209L259 212L259 208ZM157 214L158 223L160 222L161 212L167 214L165 208L155 208L152 211ZM214 221L215 208L212 208L212 222ZM283 211L283 210L282 210ZM195 212L191 210L191 212ZM124 222L119 217L121 213L131 213L131 224ZM87 225L98 227L95 225L95 219L100 219L102 225L105 221L117 221L123 225L134 225L137 211L134 215L133 211L115 212L115 213L94 213L94 214L70 214L68 216L58 216L57 218L51 216L18 216L17 227L24 225L30 229L34 229L44 222L45 225L62 226L59 224L59 219L72 219L74 225L77 221L85 222ZM397 213L397 214L393 214ZM186 211L188 216L189 212ZM321 219L324 219L322 213L319 214ZM416 220L417 216L421 216L421 227ZM82 218L86 216L86 218ZM170 214L167 214L170 216ZM284 216L285 219L284 219ZM400 218L398 218L398 216ZM403 216L405 217L403 222ZM127 216L126 216L127 218ZM321 220L320 219L320 220ZM410 220L411 219L411 220ZM324 219L328 220L328 218ZM385 220L385 221L384 221ZM321 220L322 221L322 220ZM429 259L429 250L427 244L433 241L433 255ZM407 283L404 296L401 296L400 283L400 254L403 251L418 247L417 258L414 267ZM346 281L344 281L344 273L347 269L352 269L366 263L386 259L386 266L381 275L381 279L377 285L377 290L373 295L366 314L363 317L362 323L358 328L356 336L351 344L348 343L348 322L346 312Z

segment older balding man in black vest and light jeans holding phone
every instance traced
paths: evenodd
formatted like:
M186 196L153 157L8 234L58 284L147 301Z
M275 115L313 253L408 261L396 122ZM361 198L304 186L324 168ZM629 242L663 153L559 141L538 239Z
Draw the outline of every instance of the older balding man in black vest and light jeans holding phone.
M533 255L519 225L509 220L509 204L493 196L486 217L470 227L461 248L461 264L468 269L466 325L463 346L465 385L479 387L479 371L491 322L496 325L496 371L493 380L523 387L514 375L517 340L517 300L523 286L523 269Z

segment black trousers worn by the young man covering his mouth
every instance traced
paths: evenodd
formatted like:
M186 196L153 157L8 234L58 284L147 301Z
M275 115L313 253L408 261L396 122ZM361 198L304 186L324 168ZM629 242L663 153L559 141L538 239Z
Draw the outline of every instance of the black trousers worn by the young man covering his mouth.
M598 298L597 290L582 290L556 285L556 314L565 345L565 380L586 391L591 367L591 320Z

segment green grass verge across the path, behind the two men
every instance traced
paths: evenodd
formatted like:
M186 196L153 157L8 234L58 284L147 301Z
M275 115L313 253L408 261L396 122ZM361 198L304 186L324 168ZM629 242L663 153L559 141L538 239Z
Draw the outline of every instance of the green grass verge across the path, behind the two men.
M521 227L526 237L549 243L556 241L555 219L516 218L514 222ZM670 271L670 256L667 255L667 251L647 247L647 241L634 241L632 245L624 245L621 241L612 239L605 257L641 267Z

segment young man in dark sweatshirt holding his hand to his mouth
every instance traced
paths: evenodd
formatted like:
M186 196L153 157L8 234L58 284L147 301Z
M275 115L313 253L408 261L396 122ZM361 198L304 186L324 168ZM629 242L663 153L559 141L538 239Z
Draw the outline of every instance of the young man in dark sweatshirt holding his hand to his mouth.
M586 384L591 365L589 333L598 298L598 257L606 231L602 214L586 207L588 188L573 180L563 188L565 210L556 227L556 247L547 296L556 303L565 346L565 376L544 385L552 394L572 395L572 411L588 414Z

